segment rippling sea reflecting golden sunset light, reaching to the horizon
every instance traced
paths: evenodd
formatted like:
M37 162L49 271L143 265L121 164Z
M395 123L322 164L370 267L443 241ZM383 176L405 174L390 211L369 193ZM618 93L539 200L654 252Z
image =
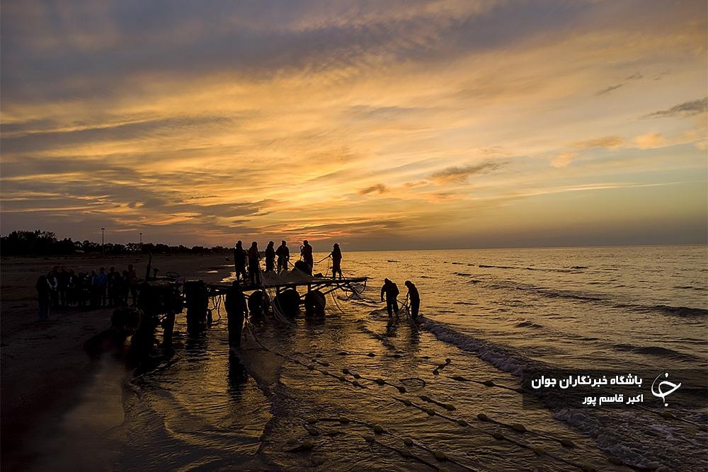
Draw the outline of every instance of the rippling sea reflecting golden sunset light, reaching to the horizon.
M331 276L330 263L314 272ZM174 354L125 380L113 468L708 469L706 246L345 247L342 269L369 278L327 294L324 318L252 321L239 355L222 300L203 333L180 316ZM224 260L190 277L234 272ZM400 289L398 316L381 302L384 277ZM568 373L643 383L622 386L635 402L605 405L523 389L531 374ZM681 386L656 396L662 381L660 393Z

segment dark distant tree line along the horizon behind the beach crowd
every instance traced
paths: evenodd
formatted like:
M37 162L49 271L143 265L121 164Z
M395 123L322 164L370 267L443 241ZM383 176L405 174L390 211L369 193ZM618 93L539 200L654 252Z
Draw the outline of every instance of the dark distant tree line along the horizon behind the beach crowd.
M106 254L190 254L190 253L224 253L230 251L223 246L207 248L205 246L169 246L161 243L127 243L114 244L93 241L72 241L72 238L57 239L51 231L13 231L7 236L0 236L1 255L68 255L81 253Z

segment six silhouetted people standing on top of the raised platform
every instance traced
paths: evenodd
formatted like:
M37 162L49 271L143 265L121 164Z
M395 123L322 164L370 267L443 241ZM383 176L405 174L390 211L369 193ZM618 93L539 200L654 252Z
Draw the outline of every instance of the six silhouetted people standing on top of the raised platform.
M300 260L295 264L290 262L290 248L287 247L286 241L280 241L280 246L278 246L277 249L273 241L268 241L264 255L265 270L263 272L280 274L280 272L287 271L287 265L290 264L298 270L302 270L302 272L305 272L307 275L312 275L312 270L316 264L312 258L312 246L310 246L307 239L302 241L302 246L300 246ZM341 248L339 248L339 244L334 244L332 252L329 253L326 258L332 259L332 278L336 278L337 275L343 278L342 251ZM242 279L244 282L249 281L252 285L261 284L261 251L258 250L257 241L251 243L251 247L248 251L244 250L242 241L236 242L236 247L234 248L234 268L236 269L237 281Z

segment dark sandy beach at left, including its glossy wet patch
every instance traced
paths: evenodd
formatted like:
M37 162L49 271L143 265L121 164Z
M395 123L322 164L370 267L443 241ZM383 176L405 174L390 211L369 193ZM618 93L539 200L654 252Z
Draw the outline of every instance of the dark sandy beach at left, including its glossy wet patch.
M144 275L144 255L3 258L0 265L1 466L3 470L52 468L76 464L93 470L112 468L120 438L110 431L122 422L125 370L110 355L92 359L84 343L110 327L113 309L52 310L37 321L35 282L53 266L76 272L136 266ZM224 265L225 255L155 255L153 267L188 277L208 276ZM105 438L105 440L103 439ZM86 442L86 454L62 456L65 447ZM101 440L101 447L95 444ZM82 443L83 444L83 443ZM100 451L100 454L98 453ZM59 462L57 462L57 459Z

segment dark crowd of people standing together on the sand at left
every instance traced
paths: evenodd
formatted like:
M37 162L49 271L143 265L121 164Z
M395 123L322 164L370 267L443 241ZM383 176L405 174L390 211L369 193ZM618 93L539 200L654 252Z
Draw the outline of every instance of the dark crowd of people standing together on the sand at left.
M76 272L67 267L52 267L47 275L40 275L35 284L39 301L38 318L49 318L50 309L78 306L127 306L130 297L137 302L138 277L135 267L129 264L122 272L110 267L100 267L98 272Z

